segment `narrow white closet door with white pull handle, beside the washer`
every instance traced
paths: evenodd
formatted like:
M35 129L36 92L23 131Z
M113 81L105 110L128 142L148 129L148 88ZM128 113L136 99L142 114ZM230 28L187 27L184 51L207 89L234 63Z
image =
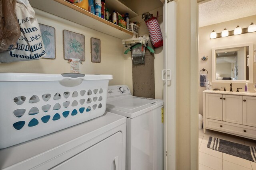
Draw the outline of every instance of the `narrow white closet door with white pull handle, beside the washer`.
M176 16L175 1L164 3L164 170L176 170Z

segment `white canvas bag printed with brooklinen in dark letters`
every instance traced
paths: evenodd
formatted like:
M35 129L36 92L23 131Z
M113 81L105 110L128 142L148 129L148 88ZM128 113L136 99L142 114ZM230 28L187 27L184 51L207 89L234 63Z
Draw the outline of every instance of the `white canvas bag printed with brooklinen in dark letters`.
M46 55L35 12L28 0L17 0L15 14L20 25L16 49L0 53L0 63L41 59Z

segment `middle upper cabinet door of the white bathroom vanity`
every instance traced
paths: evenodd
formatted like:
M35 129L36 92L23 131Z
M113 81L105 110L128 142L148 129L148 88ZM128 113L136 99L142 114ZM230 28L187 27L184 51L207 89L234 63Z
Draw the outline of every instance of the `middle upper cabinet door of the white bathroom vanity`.
M223 94L223 121L243 124L243 96Z

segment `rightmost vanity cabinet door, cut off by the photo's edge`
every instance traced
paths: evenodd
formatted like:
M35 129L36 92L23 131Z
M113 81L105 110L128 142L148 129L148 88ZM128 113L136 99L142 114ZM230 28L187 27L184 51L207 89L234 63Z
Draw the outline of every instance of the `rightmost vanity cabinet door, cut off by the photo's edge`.
M256 127L256 97L243 96L243 124Z

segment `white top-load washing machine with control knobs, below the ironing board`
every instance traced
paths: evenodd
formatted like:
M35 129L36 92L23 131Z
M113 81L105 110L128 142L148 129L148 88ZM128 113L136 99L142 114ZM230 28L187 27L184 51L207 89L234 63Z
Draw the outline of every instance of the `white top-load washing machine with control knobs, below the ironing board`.
M127 117L126 169L163 169L162 100L131 95L128 86L108 86L106 111Z

